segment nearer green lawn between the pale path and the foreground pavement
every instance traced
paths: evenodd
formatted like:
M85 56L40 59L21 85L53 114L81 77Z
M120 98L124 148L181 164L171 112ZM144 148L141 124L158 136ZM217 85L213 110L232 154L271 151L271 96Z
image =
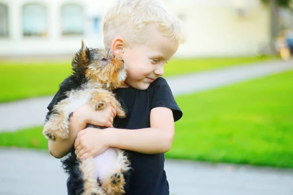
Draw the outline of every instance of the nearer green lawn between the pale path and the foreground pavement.
M293 71L176 97L169 158L293 168ZM0 145L47 148L42 127L0 133Z

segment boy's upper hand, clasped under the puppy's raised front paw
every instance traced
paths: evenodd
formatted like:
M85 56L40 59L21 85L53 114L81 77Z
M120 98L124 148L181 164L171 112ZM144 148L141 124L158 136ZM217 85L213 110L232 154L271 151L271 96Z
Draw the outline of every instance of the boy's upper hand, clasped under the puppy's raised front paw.
M85 104L76 109L74 115L82 118L85 125L92 124L96 126L113 127L116 110L112 106L108 106L103 110L93 111L88 104Z

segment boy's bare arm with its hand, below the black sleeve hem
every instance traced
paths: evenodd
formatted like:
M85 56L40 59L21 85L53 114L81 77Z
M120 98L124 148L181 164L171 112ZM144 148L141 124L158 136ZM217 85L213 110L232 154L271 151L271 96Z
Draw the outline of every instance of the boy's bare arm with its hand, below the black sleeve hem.
M78 158L97 156L108 147L144 154L160 154L170 150L173 136L172 110L156 107L150 112L150 128L135 130L87 128L78 134L74 145Z

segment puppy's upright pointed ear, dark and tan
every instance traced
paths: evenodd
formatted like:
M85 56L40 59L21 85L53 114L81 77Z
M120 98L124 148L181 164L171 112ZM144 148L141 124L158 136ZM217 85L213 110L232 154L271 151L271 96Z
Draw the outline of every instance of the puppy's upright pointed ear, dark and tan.
M89 50L85 46L84 41L82 40L81 49L75 54L75 57L72 60L72 69L73 71L84 71L87 68L89 60Z

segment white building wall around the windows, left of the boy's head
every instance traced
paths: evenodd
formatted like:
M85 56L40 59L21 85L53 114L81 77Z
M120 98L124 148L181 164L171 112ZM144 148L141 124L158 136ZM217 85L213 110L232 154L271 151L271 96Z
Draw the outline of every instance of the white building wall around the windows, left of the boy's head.
M102 15L111 0L0 0L8 6L9 36L0 38L0 56L23 55L62 55L75 53L81 46L81 39L89 47L103 45L102 29L100 34L90 34L90 17ZM79 36L63 36L61 30L61 6L76 2L85 9L85 33ZM40 3L47 7L47 37L22 36L22 6L26 3Z

